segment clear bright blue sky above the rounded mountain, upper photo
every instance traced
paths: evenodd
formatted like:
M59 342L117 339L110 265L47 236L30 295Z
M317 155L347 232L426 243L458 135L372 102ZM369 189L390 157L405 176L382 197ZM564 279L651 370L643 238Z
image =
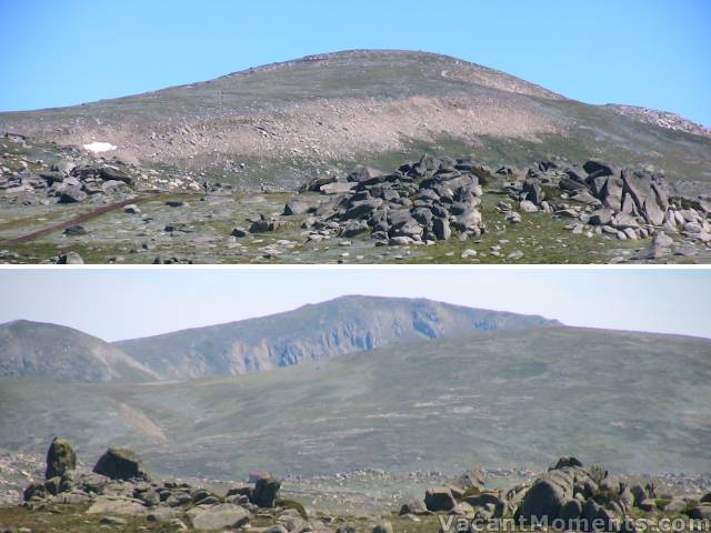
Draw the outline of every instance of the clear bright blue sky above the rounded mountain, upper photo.
M708 0L0 0L0 110L353 48L447 53L711 125Z

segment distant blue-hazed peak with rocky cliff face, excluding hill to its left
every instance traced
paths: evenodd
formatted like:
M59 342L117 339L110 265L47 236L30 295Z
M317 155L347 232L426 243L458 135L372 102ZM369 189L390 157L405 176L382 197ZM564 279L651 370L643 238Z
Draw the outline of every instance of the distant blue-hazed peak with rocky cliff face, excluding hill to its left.
M258 372L401 341L548 325L559 324L428 300L348 296L116 346L166 379L193 379Z

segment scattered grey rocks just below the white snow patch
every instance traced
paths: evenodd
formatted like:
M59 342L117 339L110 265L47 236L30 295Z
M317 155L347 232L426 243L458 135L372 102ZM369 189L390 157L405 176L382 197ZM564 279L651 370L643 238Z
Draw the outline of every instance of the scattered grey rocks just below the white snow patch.
M6 134L0 141L0 198L19 204L78 203L123 199L137 191L194 192L189 177L166 177L120 160L91 157L76 148L36 143ZM41 158L31 158L30 154Z

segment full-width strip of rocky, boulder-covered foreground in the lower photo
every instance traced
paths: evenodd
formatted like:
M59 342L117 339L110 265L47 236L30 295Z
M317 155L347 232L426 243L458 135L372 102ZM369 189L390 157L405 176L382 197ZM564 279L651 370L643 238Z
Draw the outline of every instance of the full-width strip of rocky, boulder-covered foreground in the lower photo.
M299 481L290 480L292 486ZM44 474L24 487L23 503L0 506L0 531L387 533L442 531L447 523L457 527L451 531L470 531L472 524L492 526L503 519L514 520L515 529L523 530L535 529L542 520L554 529L553 521L564 520L582 524L570 529L625 532L642 531L660 519L684 520L684 524L693 519L705 520L707 530L701 531L708 531L711 520L711 493L704 493L709 476L698 476L697 484L681 490L669 479L613 475L601 466L584 467L575 457L561 457L538 475L472 470L454 479L431 472L395 480L381 471L358 471L310 480L321 483L322 493L343 493L344 486L360 483L364 494L373 495L393 481L401 487L420 487L420 492L395 493L393 504L380 510L367 505L329 509L316 500L306 501L303 491L284 491L283 481L268 473L250 483L222 486L158 481L144 471L139 456L122 449L107 450L89 472L78 465L68 441L54 439ZM334 489L334 483L340 487Z

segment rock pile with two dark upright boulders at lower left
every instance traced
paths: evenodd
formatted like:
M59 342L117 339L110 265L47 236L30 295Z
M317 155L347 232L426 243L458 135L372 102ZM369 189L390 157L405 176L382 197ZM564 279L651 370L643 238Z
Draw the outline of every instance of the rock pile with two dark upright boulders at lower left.
M29 509L87 503L87 514L146 515L149 521L171 523L181 530L187 529L186 524L197 530L240 527L266 509L280 512L282 522L297 517L303 522L306 512L293 502L290 506L297 511L276 509L278 504L289 505L278 500L280 487L279 480L262 477L236 485L221 497L188 483L157 482L143 470L136 453L114 447L99 459L91 473L80 473L71 444L54 439L47 453L46 480L24 490L24 502Z

